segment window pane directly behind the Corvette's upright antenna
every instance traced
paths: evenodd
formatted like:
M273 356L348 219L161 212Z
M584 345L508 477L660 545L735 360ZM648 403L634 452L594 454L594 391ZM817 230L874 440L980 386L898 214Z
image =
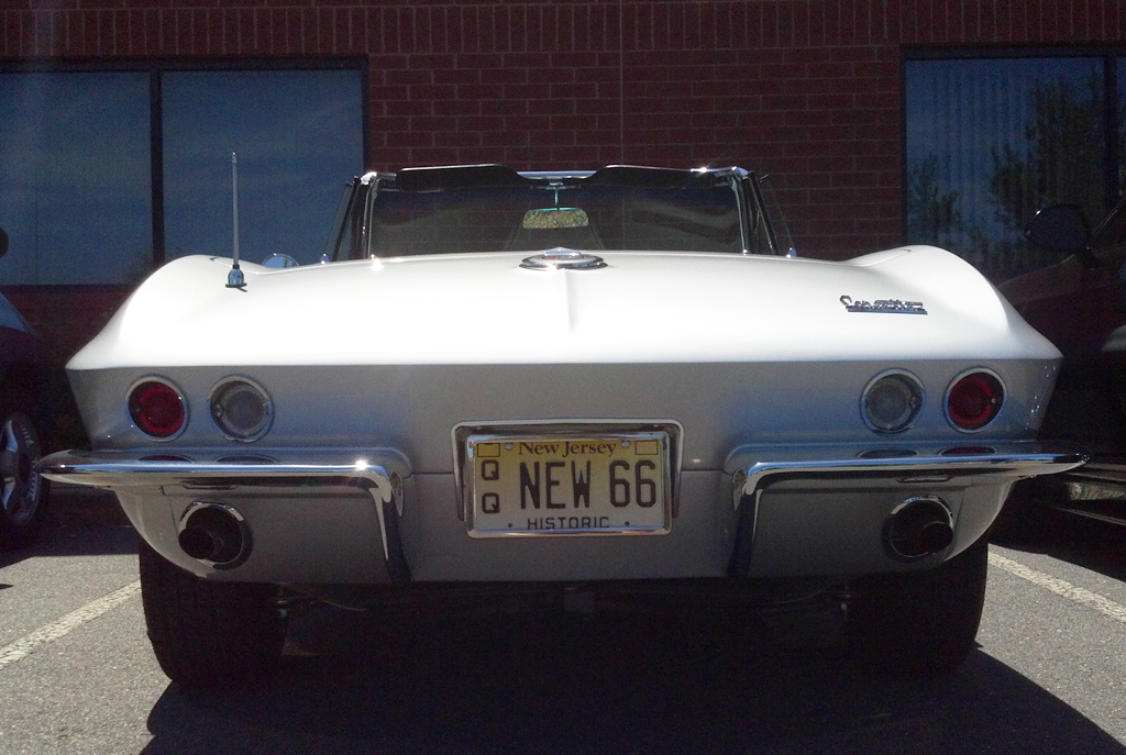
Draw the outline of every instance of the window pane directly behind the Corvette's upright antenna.
M236 152L242 259L316 262L364 167L360 74L169 72L162 87L167 258L231 255Z

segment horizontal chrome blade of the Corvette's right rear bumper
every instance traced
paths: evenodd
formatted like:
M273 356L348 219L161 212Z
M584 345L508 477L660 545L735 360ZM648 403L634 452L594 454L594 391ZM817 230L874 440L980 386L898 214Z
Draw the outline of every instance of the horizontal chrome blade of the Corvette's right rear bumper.
M855 446L743 447L727 458L724 473L741 482L741 495L734 495L734 491L732 495L738 509L743 495L754 495L778 475L900 475L905 477L904 483L927 482L935 475L1019 479L1067 471L1088 459L1081 449L1038 441L995 443L990 448L966 449L962 455L949 455L951 449L936 447L911 448L902 457L861 458L868 450L869 447Z

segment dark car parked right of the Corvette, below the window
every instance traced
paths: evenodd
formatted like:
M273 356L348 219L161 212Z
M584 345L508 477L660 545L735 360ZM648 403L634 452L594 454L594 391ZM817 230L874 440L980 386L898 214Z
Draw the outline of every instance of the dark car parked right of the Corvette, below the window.
M1088 227L1075 206L1037 213L1029 241L1064 259L999 287L1064 356L1040 434L1091 453L1066 474L1021 483L1013 501L1126 525L1126 199Z

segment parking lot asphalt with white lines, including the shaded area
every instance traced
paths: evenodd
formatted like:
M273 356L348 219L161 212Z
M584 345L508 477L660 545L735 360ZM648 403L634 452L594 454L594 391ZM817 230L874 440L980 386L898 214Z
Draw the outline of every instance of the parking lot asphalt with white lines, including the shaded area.
M980 647L954 674L844 663L831 622L318 609L268 685L188 692L144 633L136 536L56 491L0 556L0 753L1060 753L1126 755L1121 532L991 546Z

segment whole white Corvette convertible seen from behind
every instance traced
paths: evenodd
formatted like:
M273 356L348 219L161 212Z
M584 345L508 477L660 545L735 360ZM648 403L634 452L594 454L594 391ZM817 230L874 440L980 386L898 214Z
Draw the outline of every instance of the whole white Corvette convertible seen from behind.
M68 366L92 449L41 469L117 494L184 684L271 669L296 600L481 583L820 590L946 668L1009 487L1083 460L973 268L798 259L741 169L370 173L322 259L171 262Z

